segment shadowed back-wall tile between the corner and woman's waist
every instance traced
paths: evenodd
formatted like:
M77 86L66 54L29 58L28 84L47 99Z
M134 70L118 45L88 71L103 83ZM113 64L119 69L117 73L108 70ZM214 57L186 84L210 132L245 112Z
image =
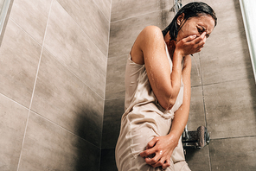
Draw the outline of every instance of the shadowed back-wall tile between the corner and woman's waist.
M102 149L114 149L118 141L121 117L125 112L125 98L105 101L102 130Z

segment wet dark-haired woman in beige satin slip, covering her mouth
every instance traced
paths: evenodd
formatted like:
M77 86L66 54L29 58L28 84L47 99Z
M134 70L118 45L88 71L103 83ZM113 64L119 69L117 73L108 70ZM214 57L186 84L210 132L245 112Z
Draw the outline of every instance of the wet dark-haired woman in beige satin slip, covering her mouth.
M163 32L148 26L138 35L125 71L119 171L190 170L181 142L189 117L189 54L202 50L216 21L206 3L188 3Z

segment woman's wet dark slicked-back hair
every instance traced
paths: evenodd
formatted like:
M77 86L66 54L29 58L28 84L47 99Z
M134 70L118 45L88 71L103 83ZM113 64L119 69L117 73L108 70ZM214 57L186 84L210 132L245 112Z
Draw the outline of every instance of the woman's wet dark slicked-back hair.
M182 22L182 26L190 17L198 17L202 16L203 14L212 16L214 19L214 27L217 25L217 17L215 15L214 9L208 6L208 4L202 2L188 3L183 6L182 9L178 10L176 16L173 18L172 22L170 22L169 26L163 29L163 36L166 35L168 31L170 31L171 40L176 41L178 31L182 28L182 26L177 24L177 18L178 16L181 16L182 13L184 14L184 22Z

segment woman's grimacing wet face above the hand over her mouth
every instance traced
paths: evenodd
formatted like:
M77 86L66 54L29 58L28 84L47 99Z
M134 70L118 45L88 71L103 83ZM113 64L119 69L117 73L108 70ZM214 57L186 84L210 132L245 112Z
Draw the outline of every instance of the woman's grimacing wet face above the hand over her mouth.
M208 38L214 29L214 19L209 15L190 17L187 21L184 21L182 14L178 17L177 24L182 26L182 28L178 32L176 41L180 41L189 35L196 35L198 37L203 32L206 32L205 36Z

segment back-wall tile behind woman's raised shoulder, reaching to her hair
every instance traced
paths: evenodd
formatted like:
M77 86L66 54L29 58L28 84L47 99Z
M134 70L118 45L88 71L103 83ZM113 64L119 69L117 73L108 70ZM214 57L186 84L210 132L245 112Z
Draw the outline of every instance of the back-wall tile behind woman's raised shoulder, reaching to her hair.
M158 10L150 13L150 15L112 22L110 28L109 58L129 54L133 42L146 26L155 25L161 29L165 28L169 22L168 24L164 22L163 16L164 21L170 22L173 12L169 10Z

